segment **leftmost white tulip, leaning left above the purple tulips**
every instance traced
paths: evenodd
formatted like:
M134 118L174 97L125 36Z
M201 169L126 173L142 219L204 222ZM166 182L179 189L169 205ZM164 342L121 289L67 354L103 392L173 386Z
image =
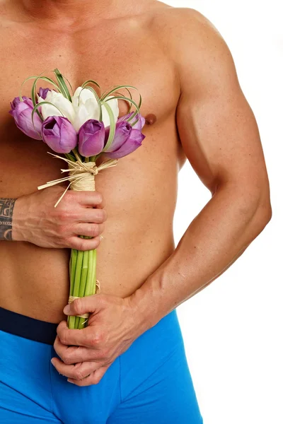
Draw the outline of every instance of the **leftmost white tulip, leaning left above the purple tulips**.
M74 107L71 104L71 102L64 97L64 95L62 95L61 93L57 93L57 91L55 90L50 90L48 91L45 100L42 99L40 96L38 96L38 103L41 102L50 102L52 103L52 105L56 106L52 106L52 105L42 105L41 107L41 113L42 113L42 117L43 119L46 119L47 117L50 116L63 116L68 118L69 121L71 122L71 124L74 124L74 119L75 119L75 111L74 111ZM58 107L58 109L57 109ZM62 113L60 113L62 112Z

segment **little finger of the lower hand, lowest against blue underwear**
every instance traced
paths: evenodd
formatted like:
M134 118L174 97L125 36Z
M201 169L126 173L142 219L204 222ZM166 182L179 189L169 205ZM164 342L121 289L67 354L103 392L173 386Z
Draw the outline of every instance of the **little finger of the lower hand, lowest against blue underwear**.
M52 365L56 368L59 374L64 375L65 377L81 380L88 375L91 375L92 372L97 370L101 365L99 363L87 362L87 363L77 363L74 365L67 365L62 360L58 358L52 358Z

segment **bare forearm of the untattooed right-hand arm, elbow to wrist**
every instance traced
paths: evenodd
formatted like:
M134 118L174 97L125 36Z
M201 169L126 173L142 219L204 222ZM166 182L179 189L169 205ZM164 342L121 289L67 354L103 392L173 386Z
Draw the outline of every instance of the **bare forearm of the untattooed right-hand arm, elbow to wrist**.
M226 184L185 231L173 254L132 295L144 329L212 283L270 220L270 204Z

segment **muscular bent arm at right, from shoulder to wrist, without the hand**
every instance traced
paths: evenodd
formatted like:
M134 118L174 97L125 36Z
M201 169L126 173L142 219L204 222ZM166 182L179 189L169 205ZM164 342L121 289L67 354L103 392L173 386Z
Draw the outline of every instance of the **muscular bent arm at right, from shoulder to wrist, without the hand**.
M171 257L132 295L145 328L228 269L272 213L258 125L226 42L209 20L188 8L172 25L178 28L173 50L180 76L180 142L212 199Z

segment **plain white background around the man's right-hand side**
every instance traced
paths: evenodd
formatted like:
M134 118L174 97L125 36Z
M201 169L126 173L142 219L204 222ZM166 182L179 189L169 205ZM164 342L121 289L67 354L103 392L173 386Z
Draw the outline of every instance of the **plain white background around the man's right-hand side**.
M178 307L204 424L283 424L281 0L164 2L197 9L229 45L260 129L272 196L265 230L222 276ZM209 199L187 162L179 176L176 245Z

